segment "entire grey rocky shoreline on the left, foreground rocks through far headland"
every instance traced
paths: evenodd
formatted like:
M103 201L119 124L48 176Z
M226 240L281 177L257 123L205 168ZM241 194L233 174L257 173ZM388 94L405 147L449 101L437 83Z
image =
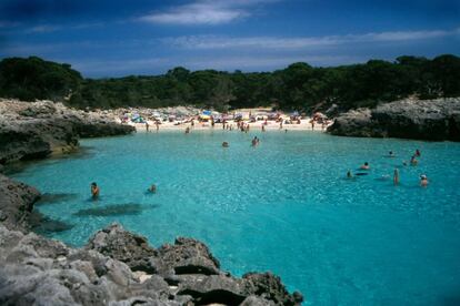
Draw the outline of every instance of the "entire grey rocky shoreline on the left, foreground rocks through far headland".
M101 114L52 102L0 101L0 165L78 147L79 137L129 134ZM0 169L1 172L1 169ZM1 305L300 305L271 273L220 269L201 242L153 248L119 224L82 248L30 232L40 192L0 174Z

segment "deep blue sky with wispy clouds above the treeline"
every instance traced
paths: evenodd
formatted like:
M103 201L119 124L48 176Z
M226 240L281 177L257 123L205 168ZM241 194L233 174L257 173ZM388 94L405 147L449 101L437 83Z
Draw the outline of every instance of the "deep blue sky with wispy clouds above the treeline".
M84 76L460 54L460 0L0 0L0 58Z

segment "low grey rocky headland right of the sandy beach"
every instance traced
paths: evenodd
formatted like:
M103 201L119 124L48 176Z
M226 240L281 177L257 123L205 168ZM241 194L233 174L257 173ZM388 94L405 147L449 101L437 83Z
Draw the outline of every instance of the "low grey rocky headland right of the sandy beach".
M460 99L403 100L353 110L328 129L333 135L460 141Z

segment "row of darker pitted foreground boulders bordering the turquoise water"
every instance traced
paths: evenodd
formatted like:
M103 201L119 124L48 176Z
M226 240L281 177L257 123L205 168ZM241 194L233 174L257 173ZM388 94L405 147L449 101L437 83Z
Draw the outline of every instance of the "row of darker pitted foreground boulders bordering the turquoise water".
M299 293L290 295L271 273L249 273L236 278L221 272L209 248L192 238L179 237L173 245L156 249L144 237L113 224L99 231L86 249L123 262L141 277L161 277L172 288L171 295L190 296L193 305L240 305L248 298L246 305L299 305L303 299Z

